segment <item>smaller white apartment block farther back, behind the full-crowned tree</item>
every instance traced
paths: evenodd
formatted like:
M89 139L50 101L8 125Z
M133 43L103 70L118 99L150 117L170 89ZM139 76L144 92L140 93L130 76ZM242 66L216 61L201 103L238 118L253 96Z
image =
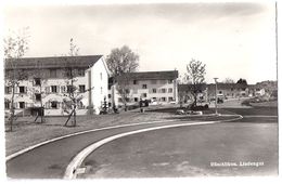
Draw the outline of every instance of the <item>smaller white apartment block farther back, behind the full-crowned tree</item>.
M126 75L126 76L125 76ZM142 100L151 100L162 104L178 102L177 90L177 70L166 71L140 71L125 74L128 84L128 104L134 104ZM111 87L108 97L113 104L121 104L123 100L116 90L118 88L119 77L116 78L117 83Z

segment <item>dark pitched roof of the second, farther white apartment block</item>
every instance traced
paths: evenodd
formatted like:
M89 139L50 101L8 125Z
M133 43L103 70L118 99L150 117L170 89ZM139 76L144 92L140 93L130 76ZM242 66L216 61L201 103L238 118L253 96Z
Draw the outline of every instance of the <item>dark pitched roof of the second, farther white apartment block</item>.
M118 78L130 80L169 80L178 78L178 70L127 73Z

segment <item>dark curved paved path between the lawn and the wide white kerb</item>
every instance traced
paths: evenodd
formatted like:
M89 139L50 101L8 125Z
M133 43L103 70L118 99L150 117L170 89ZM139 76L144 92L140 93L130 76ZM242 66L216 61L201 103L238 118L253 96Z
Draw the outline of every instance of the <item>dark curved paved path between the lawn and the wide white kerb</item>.
M88 145L111 135L145 128L178 124L188 121L168 121L133 127L113 128L84 133L51 142L7 161L7 175L12 179L62 179L72 158Z

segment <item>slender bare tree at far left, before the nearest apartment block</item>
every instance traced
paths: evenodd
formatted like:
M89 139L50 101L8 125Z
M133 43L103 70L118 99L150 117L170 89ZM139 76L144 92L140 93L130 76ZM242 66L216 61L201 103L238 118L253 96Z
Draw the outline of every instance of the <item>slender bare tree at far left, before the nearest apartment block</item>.
M10 100L10 131L13 130L13 121L15 116L15 89L20 81L27 79L27 74L23 69L17 68L16 60L23 57L28 50L28 27L23 28L18 32L11 32L4 38L4 62L5 62L5 83L11 88Z

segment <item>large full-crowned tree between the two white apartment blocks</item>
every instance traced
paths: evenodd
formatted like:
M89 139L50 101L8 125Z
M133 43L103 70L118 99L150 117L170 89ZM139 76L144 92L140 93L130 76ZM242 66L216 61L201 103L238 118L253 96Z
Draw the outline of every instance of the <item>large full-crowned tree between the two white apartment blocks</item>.
M117 82L117 92L121 97L125 110L127 110L127 101L129 95L128 74L138 70L139 55L132 52L127 45L123 48L113 49L111 54L106 57L106 64L114 77L114 82ZM115 107L115 104L113 104Z

